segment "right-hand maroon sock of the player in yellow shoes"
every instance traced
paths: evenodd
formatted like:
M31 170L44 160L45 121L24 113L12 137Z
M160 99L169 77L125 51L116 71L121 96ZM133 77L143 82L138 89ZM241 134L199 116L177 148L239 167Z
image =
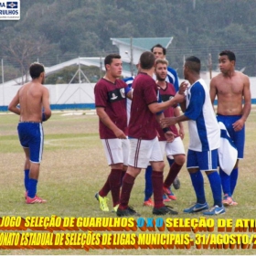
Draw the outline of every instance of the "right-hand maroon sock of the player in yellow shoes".
M119 204L122 172L123 170L121 169L112 169L111 174L109 176L109 183L112 191L113 207Z

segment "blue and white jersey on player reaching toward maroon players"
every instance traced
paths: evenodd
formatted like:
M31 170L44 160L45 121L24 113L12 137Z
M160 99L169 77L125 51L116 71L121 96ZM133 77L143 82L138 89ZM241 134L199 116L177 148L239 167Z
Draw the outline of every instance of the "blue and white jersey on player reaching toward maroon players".
M220 129L205 81L197 80L187 89L188 148L197 152L219 148Z

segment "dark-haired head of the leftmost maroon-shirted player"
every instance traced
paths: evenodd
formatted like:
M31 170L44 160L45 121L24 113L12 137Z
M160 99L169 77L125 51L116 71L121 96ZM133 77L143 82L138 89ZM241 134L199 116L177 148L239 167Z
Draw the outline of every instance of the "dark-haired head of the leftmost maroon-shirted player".
M104 59L105 69L113 78L118 78L122 75L123 62L121 56L116 53L109 54Z

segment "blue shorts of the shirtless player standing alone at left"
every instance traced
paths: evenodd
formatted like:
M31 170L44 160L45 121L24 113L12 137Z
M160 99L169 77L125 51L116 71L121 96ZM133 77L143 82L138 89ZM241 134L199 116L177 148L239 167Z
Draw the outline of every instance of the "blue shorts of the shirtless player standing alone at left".
M39 164L42 160L44 146L44 131L42 123L20 122L17 125L19 142L24 148L29 148L30 162Z

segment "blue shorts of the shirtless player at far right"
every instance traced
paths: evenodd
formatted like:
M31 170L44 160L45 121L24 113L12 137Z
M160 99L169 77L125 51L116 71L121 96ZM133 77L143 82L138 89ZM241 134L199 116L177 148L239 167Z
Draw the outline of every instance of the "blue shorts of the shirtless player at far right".
M218 122L224 123L231 140L234 142L238 150L238 159L243 158L244 143L245 143L245 126L239 132L235 132L232 126L233 123L238 121L241 118L241 115L217 115Z

